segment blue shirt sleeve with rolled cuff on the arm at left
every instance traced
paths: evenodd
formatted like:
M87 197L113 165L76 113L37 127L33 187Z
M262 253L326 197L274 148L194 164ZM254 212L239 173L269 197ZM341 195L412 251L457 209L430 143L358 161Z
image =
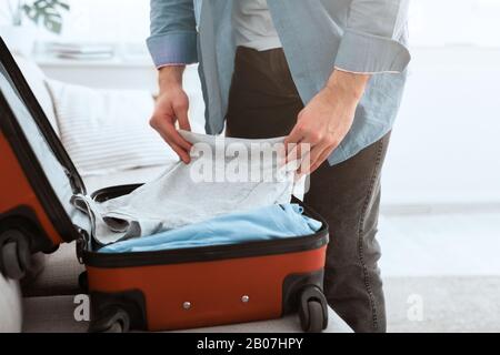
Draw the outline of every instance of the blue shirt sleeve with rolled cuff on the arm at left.
M150 19L147 44L157 68L198 62L192 0L151 0Z

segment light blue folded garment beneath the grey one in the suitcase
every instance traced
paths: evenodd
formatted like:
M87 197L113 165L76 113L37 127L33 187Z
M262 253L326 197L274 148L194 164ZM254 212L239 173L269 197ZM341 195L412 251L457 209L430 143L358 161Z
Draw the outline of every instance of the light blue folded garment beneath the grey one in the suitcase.
M321 222L303 215L296 203L230 213L150 236L109 244L101 253L151 252L310 235Z

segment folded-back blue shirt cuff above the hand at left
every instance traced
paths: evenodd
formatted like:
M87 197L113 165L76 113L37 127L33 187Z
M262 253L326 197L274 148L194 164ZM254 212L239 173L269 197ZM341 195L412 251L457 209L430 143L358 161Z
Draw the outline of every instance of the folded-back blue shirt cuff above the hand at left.
M149 52L157 68L198 62L197 42L197 32L157 34L147 40Z

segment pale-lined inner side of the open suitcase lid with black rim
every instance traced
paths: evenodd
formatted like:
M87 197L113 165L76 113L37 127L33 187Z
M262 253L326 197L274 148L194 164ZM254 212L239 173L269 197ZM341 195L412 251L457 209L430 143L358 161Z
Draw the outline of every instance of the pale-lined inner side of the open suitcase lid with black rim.
M86 194L83 180L1 37L0 130L61 236L77 239L73 225L88 224L70 200Z

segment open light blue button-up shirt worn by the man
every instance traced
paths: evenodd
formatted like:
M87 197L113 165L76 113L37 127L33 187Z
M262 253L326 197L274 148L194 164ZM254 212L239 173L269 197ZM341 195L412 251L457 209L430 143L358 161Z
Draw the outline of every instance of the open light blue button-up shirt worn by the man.
M388 133L410 61L409 0L268 0L290 71L307 104L333 69L371 73L348 135L329 158L340 163ZM199 62L209 134L223 130L236 53L231 0L151 0L148 48L154 64Z

